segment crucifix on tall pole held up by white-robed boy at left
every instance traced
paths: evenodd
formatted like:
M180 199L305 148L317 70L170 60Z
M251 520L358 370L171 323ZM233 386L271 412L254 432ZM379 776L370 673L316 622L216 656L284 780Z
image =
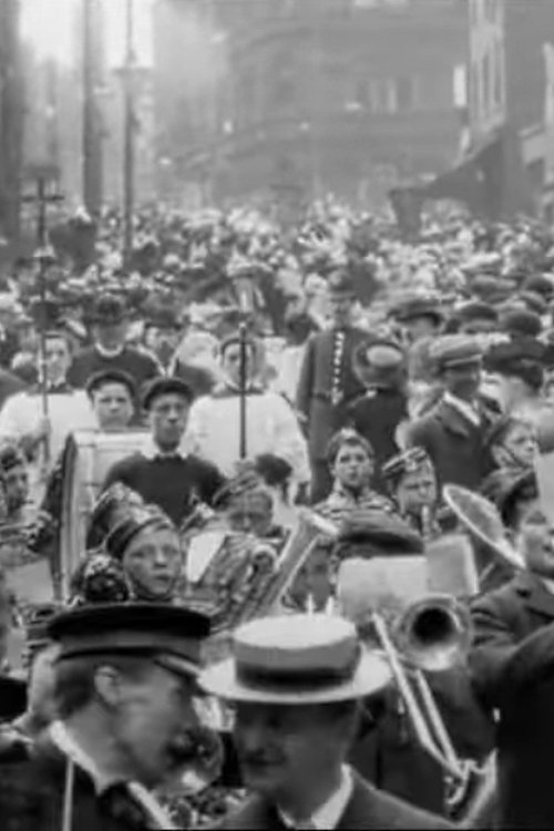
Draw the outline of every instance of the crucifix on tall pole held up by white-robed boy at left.
M50 183L57 177L50 167L37 167L31 172L37 183L34 194L23 196L27 204L37 206L37 249L34 259L38 264L38 283L40 294L40 391L42 398L42 414L48 419L48 379L47 379L47 271L55 261L55 255L48 239L48 208L63 202L60 193L51 192ZM50 461L50 444L44 441L44 461Z

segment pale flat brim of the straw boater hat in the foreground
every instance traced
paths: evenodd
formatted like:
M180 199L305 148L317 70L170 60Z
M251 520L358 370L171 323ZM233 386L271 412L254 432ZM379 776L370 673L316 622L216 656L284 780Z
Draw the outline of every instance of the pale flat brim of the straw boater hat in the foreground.
M237 676L234 658L205 669L198 677L198 684L206 693L227 701L302 706L367 698L384 689L391 679L392 674L384 658L365 650L351 679L318 690L302 689L301 683L297 689L290 689L288 686L284 689L269 683L245 684Z

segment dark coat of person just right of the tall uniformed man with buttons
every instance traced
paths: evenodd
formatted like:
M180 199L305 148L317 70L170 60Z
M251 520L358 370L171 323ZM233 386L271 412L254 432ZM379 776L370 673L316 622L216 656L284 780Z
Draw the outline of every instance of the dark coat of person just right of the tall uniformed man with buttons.
M397 444L398 425L408 418L408 398L400 390L368 390L349 407L352 427L363 435L376 454L373 486L382 491L380 470L400 452Z

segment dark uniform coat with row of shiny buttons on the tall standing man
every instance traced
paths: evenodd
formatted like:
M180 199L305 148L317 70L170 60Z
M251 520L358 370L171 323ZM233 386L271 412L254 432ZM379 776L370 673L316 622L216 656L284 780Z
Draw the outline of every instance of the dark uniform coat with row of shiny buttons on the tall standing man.
M331 402L334 379L335 329L312 335L306 345L297 390L297 410L308 430L309 451L312 460L326 458L331 435L348 422L348 404L362 394L363 387L353 371L353 351L367 331L348 328L340 365L339 404Z

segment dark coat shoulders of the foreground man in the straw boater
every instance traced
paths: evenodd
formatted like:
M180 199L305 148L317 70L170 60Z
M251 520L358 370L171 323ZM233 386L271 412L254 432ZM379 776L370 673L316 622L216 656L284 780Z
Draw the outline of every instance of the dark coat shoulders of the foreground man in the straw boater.
M276 809L261 797L250 797L235 813L218 825L219 829L245 831L285 831ZM338 824L349 829L449 829L454 828L441 817L412 808L388 793L378 791L355 776L352 797Z

